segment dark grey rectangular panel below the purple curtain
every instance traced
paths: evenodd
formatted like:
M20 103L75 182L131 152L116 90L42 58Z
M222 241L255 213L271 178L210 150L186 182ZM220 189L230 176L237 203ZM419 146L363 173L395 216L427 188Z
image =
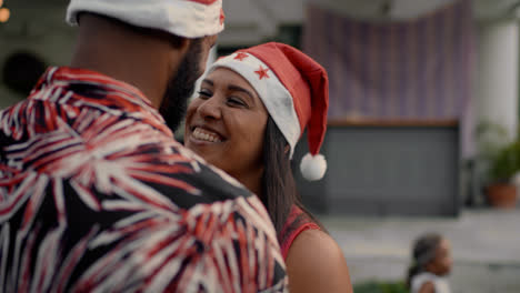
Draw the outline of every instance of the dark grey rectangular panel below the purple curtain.
M307 152L299 143L294 166ZM459 129L447 127L329 127L321 181L294 175L312 211L356 215L458 215ZM294 168L293 166L293 168Z

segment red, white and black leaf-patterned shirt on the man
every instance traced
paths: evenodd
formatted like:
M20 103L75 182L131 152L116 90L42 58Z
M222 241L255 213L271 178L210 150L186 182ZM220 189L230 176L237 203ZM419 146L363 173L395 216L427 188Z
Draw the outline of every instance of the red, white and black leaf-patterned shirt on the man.
M284 292L259 199L136 88L50 68L0 112L0 292Z

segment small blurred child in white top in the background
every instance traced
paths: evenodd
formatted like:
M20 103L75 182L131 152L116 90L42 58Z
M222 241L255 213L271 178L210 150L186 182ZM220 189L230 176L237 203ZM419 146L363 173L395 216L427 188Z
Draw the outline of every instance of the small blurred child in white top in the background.
M407 284L411 293L450 293L446 276L452 266L450 242L438 233L416 240Z

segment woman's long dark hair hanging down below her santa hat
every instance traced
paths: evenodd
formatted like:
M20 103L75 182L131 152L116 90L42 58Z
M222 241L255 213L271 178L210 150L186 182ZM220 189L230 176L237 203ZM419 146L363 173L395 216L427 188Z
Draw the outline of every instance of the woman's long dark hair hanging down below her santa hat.
M262 196L263 205L271 216L271 221L277 230L278 240L281 243L283 240L282 230L286 225L287 218L293 205L297 205L303 211L303 215L308 220L317 223L320 228L321 223L303 206L301 198L297 191L294 178L292 175L289 143L283 134L278 129L271 117L268 118L266 127L266 137L263 143L263 175L262 175ZM297 219L288 230L296 229L299 222L306 220ZM286 233L287 234L287 233Z

